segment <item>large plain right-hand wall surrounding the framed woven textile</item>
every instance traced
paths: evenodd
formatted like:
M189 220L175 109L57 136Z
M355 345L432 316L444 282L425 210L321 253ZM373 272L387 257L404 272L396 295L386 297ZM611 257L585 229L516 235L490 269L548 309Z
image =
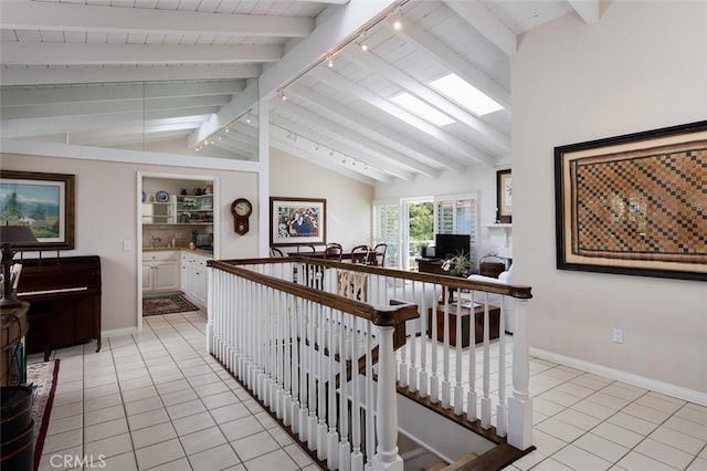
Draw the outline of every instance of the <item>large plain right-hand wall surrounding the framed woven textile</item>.
M707 401L707 284L556 270L553 147L707 118L707 3L602 7L595 24L571 14L525 34L511 61L514 255L535 296L530 345Z

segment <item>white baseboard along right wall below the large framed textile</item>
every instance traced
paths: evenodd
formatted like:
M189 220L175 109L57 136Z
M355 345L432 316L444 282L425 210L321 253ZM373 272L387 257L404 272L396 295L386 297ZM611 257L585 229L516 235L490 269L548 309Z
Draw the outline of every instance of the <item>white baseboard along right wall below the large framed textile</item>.
M676 397L689 402L707 406L707 393L700 393L695 389L684 388L657 379L647 378L645 376L634 375L633 373L622 371L620 369L610 368L608 366L598 365L595 363L584 362L582 359L560 355L553 352L544 350L541 348L530 347L530 356L546 359L548 362L559 363L571 368L581 369L582 371L594 375L604 376L616 381L627 383L632 386L650 389L666 396Z

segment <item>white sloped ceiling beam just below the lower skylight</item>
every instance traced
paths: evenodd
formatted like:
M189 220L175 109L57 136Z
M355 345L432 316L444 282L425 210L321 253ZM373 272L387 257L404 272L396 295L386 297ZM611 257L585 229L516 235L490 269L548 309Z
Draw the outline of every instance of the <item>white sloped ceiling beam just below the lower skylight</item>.
M422 132L431 137L434 137L435 139L449 146L450 151L454 153L454 155L456 155L457 157L481 161L490 166L494 165L495 159L490 155L479 149L473 148L473 146L468 145L467 143L457 139L456 137L443 132L431 123L413 115L412 113L389 102L388 100L384 100L373 92L361 87L357 83L349 81L348 78L337 74L336 72L333 72L325 67L317 67L313 70L310 74L319 81L326 82L327 85L346 92L357 97L358 100L367 102L369 105L372 105L381 109L382 112L388 113L391 117L399 119L408 126L411 126L413 128L413 133Z

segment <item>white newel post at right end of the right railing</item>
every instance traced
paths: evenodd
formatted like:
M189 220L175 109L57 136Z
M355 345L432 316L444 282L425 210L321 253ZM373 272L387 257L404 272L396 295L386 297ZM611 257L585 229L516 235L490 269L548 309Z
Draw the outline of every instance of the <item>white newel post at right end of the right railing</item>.
M513 396L508 398L508 443L525 450L532 444L532 399L530 355L528 352L527 300L514 299L515 325L513 334Z

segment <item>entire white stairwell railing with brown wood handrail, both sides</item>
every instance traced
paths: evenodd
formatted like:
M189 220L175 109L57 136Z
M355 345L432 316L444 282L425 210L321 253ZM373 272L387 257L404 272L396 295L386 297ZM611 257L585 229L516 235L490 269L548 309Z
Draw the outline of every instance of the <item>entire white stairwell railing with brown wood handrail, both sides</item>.
M408 386L410 391L429 397L460 417L478 420L483 428L507 437L508 443L520 450L531 446L525 317L529 287L298 257L250 262L231 271L224 270L222 262L214 263L218 270L210 269L213 282L209 285L209 350L239 379L247 379L247 387L258 398L262 395L261 400L267 400L283 423L315 450L329 469L398 469L392 458L397 454L394 441L382 440L394 436L392 429L397 433L397 418L388 415L391 411L388 406L381 408L383 402L378 397L381 390L394 391L395 379L398 386ZM282 286L263 291L261 280L250 280L254 273L295 282L299 290L303 285L309 287L309 297ZM318 297L312 294L315 292ZM451 300L452 294L455 301ZM419 317L407 322L405 346L393 353L391 327L373 325L357 315L360 303L345 302L352 312L341 308L337 302L342 297L376 306L387 306L391 301L415 304ZM475 303L481 304L481 314L474 313ZM492 304L500 310L500 335L494 341L490 326L496 321L495 315L492 318ZM372 310L371 305L368 307ZM511 384L507 385L509 339L504 331L506 312L511 307L513 363L508 373ZM478 333L477 324L481 324ZM391 357L383 364L380 342L386 338L388 345L389 336ZM463 337L468 337L469 345L475 347L462 346ZM498 359L493 363L492 342L498 348ZM377 365L369 355L374 345L380 347ZM358 357L366 357L360 376L349 373L346 363ZM350 362L349 367L358 371L357 363ZM382 375L383 368L390 371ZM378 383L373 381L373 373L378 373ZM351 375L350 381L341 381L335 390L330 386L333 378L346 375ZM383 385L382 377L392 383ZM376 400L371 400L373 390ZM384 396L389 395L394 398L390 391ZM378 405L378 414L386 410L387 415L381 418L369 414L368 405L373 404ZM368 417L376 417L376 421L366 421ZM373 427L376 433L371 431Z

